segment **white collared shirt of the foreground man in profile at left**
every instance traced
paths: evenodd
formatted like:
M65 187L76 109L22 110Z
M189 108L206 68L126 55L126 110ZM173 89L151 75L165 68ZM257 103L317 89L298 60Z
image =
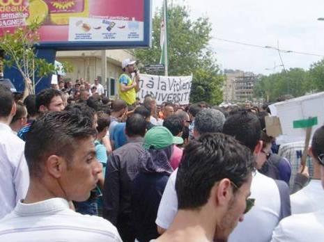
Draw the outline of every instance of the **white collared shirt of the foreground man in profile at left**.
M0 241L121 242L121 238L108 220L76 213L68 201L56 197L33 204L18 202L0 220Z

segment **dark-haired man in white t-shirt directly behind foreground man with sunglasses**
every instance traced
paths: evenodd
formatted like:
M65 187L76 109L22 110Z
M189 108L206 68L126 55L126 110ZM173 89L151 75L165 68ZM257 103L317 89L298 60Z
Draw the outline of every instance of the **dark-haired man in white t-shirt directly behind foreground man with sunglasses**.
M208 124L203 127L208 127ZM244 111L231 115L224 124L223 132L224 134L235 136L242 144L249 147L254 156L256 156L256 168L263 166L266 160L266 151L263 150L263 143L259 140L261 137L261 124L254 114ZM174 191L175 172L169 178L157 212L157 220L155 222L160 233L164 232L171 225L178 210L178 200ZM284 181L282 181L281 185L284 186L284 193L288 200L288 186L284 184ZM281 213L281 206L284 205L286 207L287 205L290 207L290 201L288 201L289 204L281 205L281 196L275 180L256 172L252 179L251 192L251 197L256 199L256 204L247 213L245 220L239 223L236 229L233 230L229 237L230 242L268 242L271 239L273 229L277 226L281 217L287 215L286 213Z

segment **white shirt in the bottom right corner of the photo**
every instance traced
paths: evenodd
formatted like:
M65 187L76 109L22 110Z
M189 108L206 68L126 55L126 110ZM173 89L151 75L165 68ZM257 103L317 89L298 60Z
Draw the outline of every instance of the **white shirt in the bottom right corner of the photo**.
M300 213L280 221L271 242L323 242L324 210Z

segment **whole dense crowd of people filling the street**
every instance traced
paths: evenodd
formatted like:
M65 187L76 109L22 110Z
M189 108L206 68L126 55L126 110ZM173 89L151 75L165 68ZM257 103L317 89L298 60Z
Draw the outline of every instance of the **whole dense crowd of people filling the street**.
M0 241L322 241L324 127L300 166L266 107L140 103L136 79L0 85Z

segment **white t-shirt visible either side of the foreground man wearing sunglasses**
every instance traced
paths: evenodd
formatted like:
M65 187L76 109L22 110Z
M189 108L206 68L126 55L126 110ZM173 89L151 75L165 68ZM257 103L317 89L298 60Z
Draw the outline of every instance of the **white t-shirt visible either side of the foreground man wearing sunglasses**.
M169 228L178 211L175 170L164 189L155 223L163 229ZM279 223L280 194L275 180L256 172L252 179L251 197L256 199L254 207L245 215L242 223L234 229L229 242L269 242L272 231Z

